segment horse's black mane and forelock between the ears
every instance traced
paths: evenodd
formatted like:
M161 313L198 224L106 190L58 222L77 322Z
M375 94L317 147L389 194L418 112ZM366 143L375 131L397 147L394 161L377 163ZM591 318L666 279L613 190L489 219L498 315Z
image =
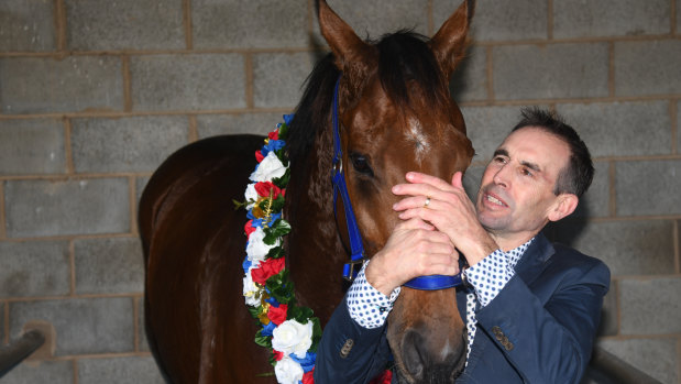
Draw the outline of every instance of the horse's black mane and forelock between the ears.
M378 52L378 77L386 95L398 108L414 109L408 83L422 89L419 103L444 108L448 87L435 55L426 43L427 37L411 31L384 35L380 41L369 41ZM303 98L296 107L288 135L288 155L292 163L305 158L312 147L318 130L327 125L333 100L333 87L340 75L332 53L316 65L305 80Z

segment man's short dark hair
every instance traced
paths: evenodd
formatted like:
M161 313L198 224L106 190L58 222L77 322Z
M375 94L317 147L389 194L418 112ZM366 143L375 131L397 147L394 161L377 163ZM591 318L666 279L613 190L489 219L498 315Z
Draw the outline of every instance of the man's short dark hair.
M525 127L536 127L558 136L570 147L570 160L568 165L558 174L553 194L558 196L568 193L582 197L589 189L594 174L593 162L586 144L558 113L535 107L523 109L521 114L523 119L514 127L512 132Z

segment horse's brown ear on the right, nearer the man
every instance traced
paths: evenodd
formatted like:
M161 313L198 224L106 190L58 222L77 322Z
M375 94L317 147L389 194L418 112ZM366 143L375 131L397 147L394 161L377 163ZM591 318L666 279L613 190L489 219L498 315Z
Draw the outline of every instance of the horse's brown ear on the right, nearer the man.
M430 40L429 44L432 53L438 63L440 63L440 68L442 68L442 73L448 80L451 73L463 58L466 36L474 12L475 0L464 0Z

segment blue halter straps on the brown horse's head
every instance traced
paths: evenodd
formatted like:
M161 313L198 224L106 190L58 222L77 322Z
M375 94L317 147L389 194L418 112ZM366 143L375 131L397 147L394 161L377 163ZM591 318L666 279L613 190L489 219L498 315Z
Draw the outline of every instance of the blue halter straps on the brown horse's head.
M348 281L354 279L360 268L355 266L362 265L366 260L364 254L364 245L362 244L362 235L360 234L360 228L350 202L350 195L348 194L348 185L345 184L345 175L343 172L343 151L341 149L339 122L338 122L338 85L340 84L340 76L336 81L336 88L333 89L333 171L331 175L331 182L333 183L333 215L338 219L336 211L338 196L343 200L343 209L345 212L345 224L348 226L348 238L350 239L350 263L343 266L343 277ZM422 290L436 290L446 289L461 285L461 274L457 276L444 275L431 275L420 276L413 278L405 283L405 286L414 289Z

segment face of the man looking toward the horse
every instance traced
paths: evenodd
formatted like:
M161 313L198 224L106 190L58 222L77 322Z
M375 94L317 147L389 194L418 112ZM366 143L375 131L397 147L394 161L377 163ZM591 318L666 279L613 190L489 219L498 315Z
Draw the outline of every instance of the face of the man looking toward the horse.
M493 235L534 237L556 208L556 180L570 149L536 127L510 133L495 151L477 193L477 219Z

